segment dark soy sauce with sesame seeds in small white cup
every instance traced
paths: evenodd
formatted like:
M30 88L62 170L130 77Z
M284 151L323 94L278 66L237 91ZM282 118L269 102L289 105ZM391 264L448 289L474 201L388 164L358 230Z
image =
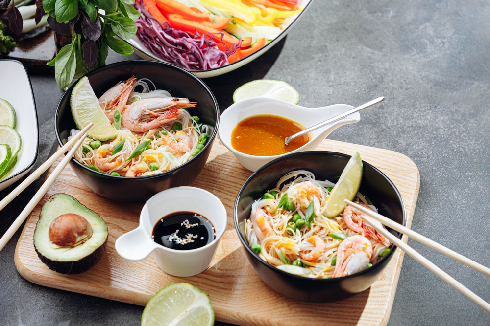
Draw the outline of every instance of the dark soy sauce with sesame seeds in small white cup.
M206 217L192 212L176 212L158 220L151 238L170 249L191 250L213 241L216 233Z

